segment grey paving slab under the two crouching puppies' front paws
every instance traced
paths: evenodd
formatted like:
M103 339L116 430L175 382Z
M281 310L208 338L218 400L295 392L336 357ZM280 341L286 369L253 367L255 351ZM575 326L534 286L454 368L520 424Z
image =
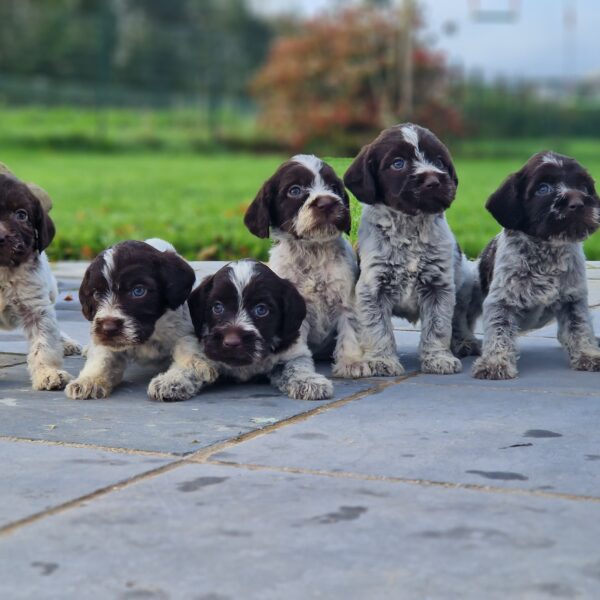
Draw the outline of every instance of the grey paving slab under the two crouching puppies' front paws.
M77 374L83 359L69 358ZM321 369L326 372L327 369ZM216 385L186 402L148 400L152 371L132 368L105 400L69 400L62 392L33 392L24 365L0 370L0 436L187 453L261 429L368 389L372 380L335 381L331 401L291 400L268 383Z

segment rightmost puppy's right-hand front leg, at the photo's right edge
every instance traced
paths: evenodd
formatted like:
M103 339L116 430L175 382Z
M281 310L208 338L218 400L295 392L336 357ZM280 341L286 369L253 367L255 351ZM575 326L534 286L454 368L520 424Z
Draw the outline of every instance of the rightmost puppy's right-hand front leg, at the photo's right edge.
M563 304L556 319L558 341L569 353L571 367L578 371L600 371L600 348L586 299Z

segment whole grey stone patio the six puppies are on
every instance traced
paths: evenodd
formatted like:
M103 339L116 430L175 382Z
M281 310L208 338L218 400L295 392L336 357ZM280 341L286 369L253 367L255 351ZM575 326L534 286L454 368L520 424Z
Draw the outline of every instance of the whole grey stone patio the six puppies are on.
M56 265L81 342L84 268ZM516 380L471 360L422 375L396 326L405 377L311 403L256 384L156 404L142 369L74 402L32 392L2 333L1 597L600 598L600 374L570 371L549 326L520 340Z

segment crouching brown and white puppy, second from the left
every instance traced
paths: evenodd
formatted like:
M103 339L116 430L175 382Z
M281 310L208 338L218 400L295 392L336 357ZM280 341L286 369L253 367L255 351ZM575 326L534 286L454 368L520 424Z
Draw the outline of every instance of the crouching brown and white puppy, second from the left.
M152 400L193 396L204 369L185 306L194 281L193 269L162 240L121 242L94 259L79 289L92 342L67 396L106 398L132 361L171 363L150 382Z

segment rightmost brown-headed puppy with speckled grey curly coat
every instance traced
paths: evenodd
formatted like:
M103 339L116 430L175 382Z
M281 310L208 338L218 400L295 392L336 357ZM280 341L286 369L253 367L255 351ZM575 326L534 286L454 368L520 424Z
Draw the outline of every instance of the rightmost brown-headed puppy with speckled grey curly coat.
M600 370L582 247L600 219L592 178L572 158L542 152L508 177L486 208L504 230L479 261L484 340L473 376L516 377L517 333L554 318L571 367Z

